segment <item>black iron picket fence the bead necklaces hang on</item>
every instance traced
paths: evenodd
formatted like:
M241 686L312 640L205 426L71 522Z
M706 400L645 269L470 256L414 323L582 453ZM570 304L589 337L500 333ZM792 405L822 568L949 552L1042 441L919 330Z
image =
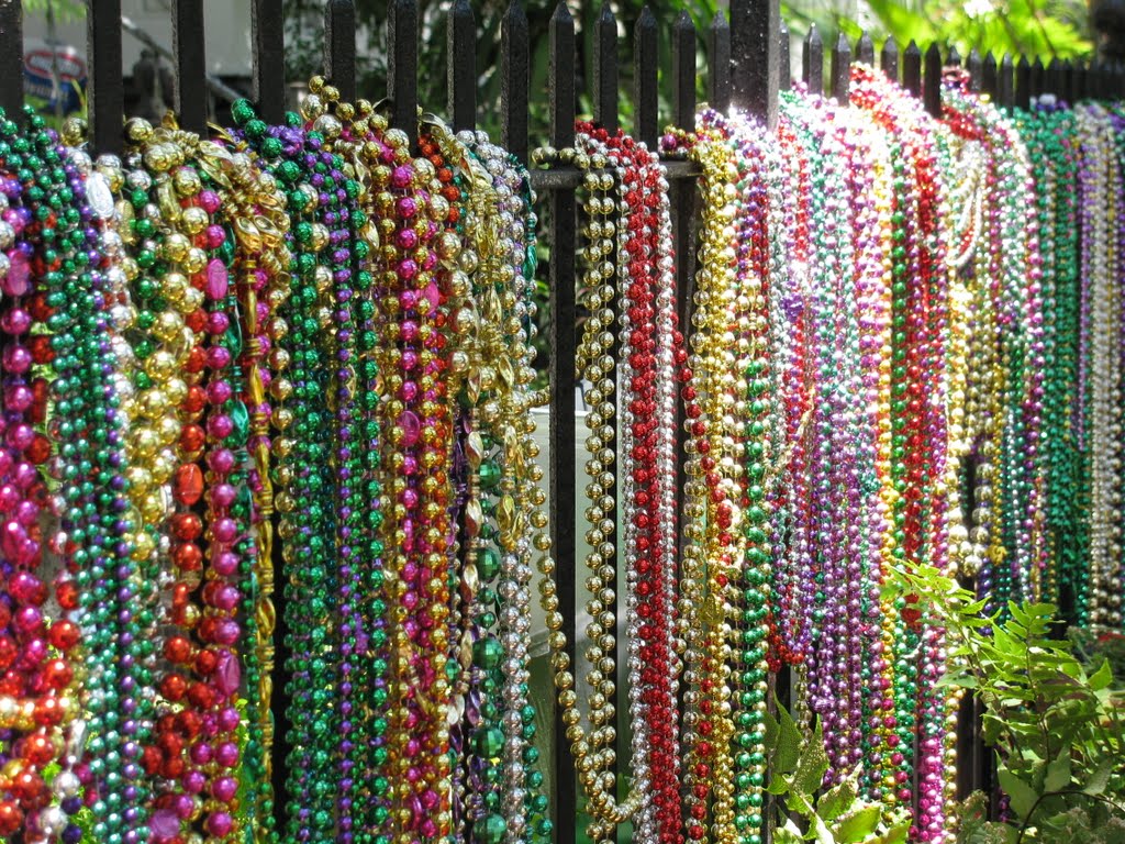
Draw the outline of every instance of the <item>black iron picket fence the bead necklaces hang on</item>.
M585 1L585 0L584 0ZM282 0L251 0L252 74L248 92L263 119L280 123L286 107L285 43ZM790 80L790 37L780 19L778 0L731 0L729 18L720 11L704 38L706 44L703 79L708 102L719 110L738 106L760 116L767 123L776 120L778 90L788 89ZM389 0L388 3L387 90L357 91L356 83L356 8L352 0L326 0L324 35L324 73L341 92L343 100L357 95L369 99L389 100L392 125L414 136L417 131L417 79L420 71L420 16L416 0ZM171 0L173 26L173 101L180 126L206 133L209 113L206 56L204 52L204 0ZM122 0L88 0L87 28L89 68L88 118L89 138L94 152L117 152L122 147L122 125L125 117L125 84L122 66ZM18 116L22 91L22 8L18 0L0 0L0 106ZM593 104L593 119L613 131L619 127L619 21L609 2L596 19L593 43L593 74L585 91ZM670 55L659 55L660 29L670 37ZM576 104L582 74L576 62L576 27L565 2L556 8L549 24L550 64L548 71L549 133L555 147L574 143ZM501 143L518 159L529 161L529 90L532 45L528 18L519 0L512 0L504 12L501 45L502 97L498 104L478 104L478 78L475 43L478 27L468 0L454 0L448 16L449 101L444 114L454 129L474 128L482 109L498 109ZM699 79L699 34L692 19L682 14L675 20L658 20L646 9L634 21L632 35L633 101L632 124L626 126L634 137L655 147L664 126L688 127L694 123L696 82ZM801 65L804 82L812 91L825 90L839 101L847 100L848 65L854 60L874 64L875 48L867 36L853 46L843 37L830 48L829 75L825 89L825 47L813 30L802 44ZM937 45L922 53L911 43L900 51L888 42L879 54L879 64L889 74L901 79L906 89L925 101L932 114L940 110L940 77L943 66L961 64L955 51L944 56ZM1038 59L980 56L975 51L964 60L973 86L992 95L1000 106L1026 108L1033 97L1053 93L1069 101L1086 97L1117 98L1125 95L1125 69L1102 63L1051 61ZM433 72L432 70L429 72ZM660 113L658 82L670 89L670 114ZM541 91L534 92L541 97ZM440 108L442 104L422 104ZM695 178L694 165L670 161L667 165L673 192L673 232L676 245L676 279L681 324L690 324L692 279L694 272ZM532 172L532 183L549 221L542 237L551 246L549 269L551 331L549 377L551 383L550 431L550 513L551 531L557 549L559 576L559 612L566 619L564 632L572 648L576 639L578 618L576 594L576 560L574 540L576 523L576 477L573 456L576 452L576 266L578 232L575 192L582 182L580 171L573 167L554 165ZM683 467L681 467L682 479ZM683 488L683 484L678 485ZM281 592L276 595L280 603ZM278 608L278 619L282 618ZM284 630L276 632L281 655ZM616 654L613 655L616 657ZM620 662L616 661L615 662ZM284 659L278 659L279 665ZM274 682L274 715L278 721L277 758L285 758L286 701L282 681ZM782 700L789 697L789 679L776 677L775 691ZM619 708L619 719L623 708ZM550 744L556 772L569 770L569 749L565 729L555 716ZM979 709L966 701L958 728L958 791L993 788L991 756L979 739ZM619 725L620 726L620 725ZM619 742L627 730L619 729ZM627 754L619 754L624 757ZM274 771L276 787L281 792L285 772ZM576 838L578 810L573 775L556 773L551 805L557 817L557 841ZM280 807L282 800L278 800Z

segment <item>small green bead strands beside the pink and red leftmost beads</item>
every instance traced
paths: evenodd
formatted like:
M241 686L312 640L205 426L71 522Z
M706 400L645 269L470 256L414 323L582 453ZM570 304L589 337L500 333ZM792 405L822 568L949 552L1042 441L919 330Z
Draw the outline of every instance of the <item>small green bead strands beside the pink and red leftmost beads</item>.
M97 252L97 225L78 168L73 161L64 163L42 118L29 113L27 119L26 141L14 137L14 126L4 123L8 149L2 154L6 164L17 167L32 199L35 235L55 244L33 270L45 282L43 314L57 376L52 385L56 415L47 424L48 436L58 443L53 474L70 483L56 503L66 535L55 545L65 551L75 575L80 623L90 645L87 682L93 693L86 711L91 737L84 764L75 765L75 772L87 785L94 835L115 844L141 841L147 834L147 796L137 757L151 700L146 657L153 645L147 628L154 619L146 605L152 584L138 577L126 539L136 526L122 494L123 420L111 386L106 264ZM38 182L34 188L33 180ZM56 708L46 721L56 722L63 715ZM74 814L72 808L76 810L71 806L64 811Z

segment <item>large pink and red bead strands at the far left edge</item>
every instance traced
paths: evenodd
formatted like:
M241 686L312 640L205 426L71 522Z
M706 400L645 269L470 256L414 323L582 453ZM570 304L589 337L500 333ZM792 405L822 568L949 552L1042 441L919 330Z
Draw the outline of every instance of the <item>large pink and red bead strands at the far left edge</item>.
M7 159L8 150L4 152ZM65 816L76 807L68 802L64 809L60 803L70 801L78 787L70 772L73 747L65 751L69 760L62 756L69 735L81 729L81 721L74 720L72 697L78 664L74 648L81 635L65 617L48 626L43 610L48 590L38 572L43 538L37 522L46 504L46 488L37 467L51 457L52 448L35 430L44 421L47 381L32 367L50 363L53 354L42 342L46 335L37 333L42 331L42 314L36 318L40 308L36 307L33 271L42 228L32 214L32 189L25 189L16 178L18 169L9 171L8 165L6 160L0 194L0 243L4 249L0 287L7 297L0 314L6 340L4 448L0 451L0 508L4 513L0 582L6 599L0 601L0 664L4 668L0 684L0 832L15 836L26 823L33 834L58 835L75 828ZM69 605L63 601L69 580L64 572L54 584L64 609ZM48 785L45 774L56 758L69 770Z

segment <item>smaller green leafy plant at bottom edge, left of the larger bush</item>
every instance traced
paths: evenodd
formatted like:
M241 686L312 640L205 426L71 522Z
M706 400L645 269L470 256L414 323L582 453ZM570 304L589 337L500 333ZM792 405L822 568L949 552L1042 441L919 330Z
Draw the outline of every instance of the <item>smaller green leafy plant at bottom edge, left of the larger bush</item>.
M777 844L899 844L907 839L910 820L904 815L884 817L880 803L860 797L860 770L821 791L828 755L820 722L806 740L785 708L777 718L766 715L766 747L773 772L767 791L778 800L768 818ZM784 807L784 810L783 808Z

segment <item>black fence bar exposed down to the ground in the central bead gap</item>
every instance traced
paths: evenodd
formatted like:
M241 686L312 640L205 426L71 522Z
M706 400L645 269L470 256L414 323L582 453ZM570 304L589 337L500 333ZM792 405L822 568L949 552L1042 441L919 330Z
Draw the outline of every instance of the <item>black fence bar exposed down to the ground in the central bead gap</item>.
M549 98L551 144L556 149L574 145L575 117L575 37L574 18L560 0L548 29L550 42ZM574 666L576 654L577 602L575 595L575 252L576 203L573 190L551 195L551 357L550 357L550 517L551 546L555 553L558 612L561 631ZM552 806L567 807L556 814L556 841L573 842L577 790L574 778L567 725L556 701L551 747L555 770Z

